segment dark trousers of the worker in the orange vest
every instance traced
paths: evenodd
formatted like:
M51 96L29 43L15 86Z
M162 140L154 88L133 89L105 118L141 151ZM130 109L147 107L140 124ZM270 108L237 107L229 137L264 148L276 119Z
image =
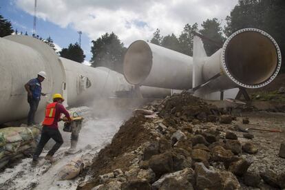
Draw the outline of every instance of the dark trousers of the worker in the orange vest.
M39 141L39 144L36 147L36 151L34 152L34 160L38 160L39 156L41 154L41 151L43 151L43 147L45 147L45 144L48 140L52 138L56 144L50 149L50 151L47 153L47 156L53 156L54 153L61 147L63 144L63 138L61 136L61 132L59 132L59 129L52 129L47 126L43 126L43 130L41 131L41 140Z

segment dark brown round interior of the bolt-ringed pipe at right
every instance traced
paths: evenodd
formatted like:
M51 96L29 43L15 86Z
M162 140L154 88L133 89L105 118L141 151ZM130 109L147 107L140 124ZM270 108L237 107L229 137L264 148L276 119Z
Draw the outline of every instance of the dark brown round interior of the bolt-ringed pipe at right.
M224 63L233 81L258 86L278 72L279 47L267 35L261 30L245 30L225 43Z

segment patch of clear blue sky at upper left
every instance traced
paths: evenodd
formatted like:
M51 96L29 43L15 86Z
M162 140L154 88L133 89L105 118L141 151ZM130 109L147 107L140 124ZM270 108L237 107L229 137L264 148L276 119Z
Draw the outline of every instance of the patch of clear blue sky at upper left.
M12 23L13 29L21 31L23 34L28 32L28 35L32 35L34 16L24 12L19 8L14 1L0 0L0 14L8 19ZM70 43L76 43L79 41L79 34L70 25L66 28L62 28L50 21L44 21L41 18L36 20L36 34L41 36L43 39L47 39L48 36L52 38L54 43L59 45L61 48L68 47ZM81 47L85 52L86 61L91 59L90 43L91 39L83 33L81 35Z

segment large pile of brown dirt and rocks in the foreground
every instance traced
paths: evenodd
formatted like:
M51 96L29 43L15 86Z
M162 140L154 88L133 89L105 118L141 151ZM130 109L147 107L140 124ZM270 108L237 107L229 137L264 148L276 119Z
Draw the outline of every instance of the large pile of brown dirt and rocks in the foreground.
M120 127L112 143L94 158L92 178L78 189L285 187L285 159L275 154L279 147L267 149L268 142L260 136L244 135L244 128L253 125L250 117L242 124L244 118L222 115L214 105L187 92L144 108L154 114L136 112ZM275 160L278 169L260 162L266 156Z

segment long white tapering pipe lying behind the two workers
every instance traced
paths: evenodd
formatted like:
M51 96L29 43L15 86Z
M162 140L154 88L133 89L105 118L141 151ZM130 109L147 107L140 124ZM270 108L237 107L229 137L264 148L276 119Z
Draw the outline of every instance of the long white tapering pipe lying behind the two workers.
M36 78L41 70L47 73L42 92L50 94L41 98L36 112L37 122L43 120L45 105L52 101L54 93L63 94L66 106L77 106L94 98L115 96L115 92L128 91L133 87L123 74L61 58L38 39L23 35L6 36L0 38L0 123L28 116L24 85L31 78ZM165 95L163 89L147 89L142 89L143 94Z

